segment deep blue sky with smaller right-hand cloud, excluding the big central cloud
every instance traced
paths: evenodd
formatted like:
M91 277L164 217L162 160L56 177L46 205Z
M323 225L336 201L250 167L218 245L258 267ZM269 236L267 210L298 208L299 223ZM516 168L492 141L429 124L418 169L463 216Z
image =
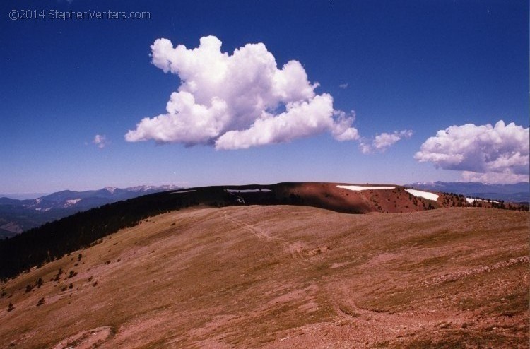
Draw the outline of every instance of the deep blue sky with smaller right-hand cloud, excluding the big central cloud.
M19 17L44 10L44 18L11 20L12 10ZM150 18L61 20L50 11L146 11ZM528 18L528 1L4 1L0 193L528 180ZM305 136L289 129L249 148L216 149L225 132L259 132L235 113L220 134L193 146L182 136L126 141L143 118L179 117L166 104L182 81L152 64L153 42L194 49L208 35L228 55L264 43L278 71L298 61L319 87L289 101L331 96L356 136L339 141L336 123L328 123ZM229 76L225 87L234 81ZM281 117L285 103L266 112ZM104 136L99 144L96 135Z

